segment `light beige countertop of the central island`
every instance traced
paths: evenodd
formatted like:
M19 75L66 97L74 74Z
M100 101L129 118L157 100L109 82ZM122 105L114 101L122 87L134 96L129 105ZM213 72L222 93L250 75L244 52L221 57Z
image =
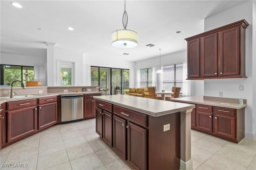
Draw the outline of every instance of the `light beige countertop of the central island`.
M94 96L93 98L154 117L195 108L195 105L192 104L182 104L130 95Z

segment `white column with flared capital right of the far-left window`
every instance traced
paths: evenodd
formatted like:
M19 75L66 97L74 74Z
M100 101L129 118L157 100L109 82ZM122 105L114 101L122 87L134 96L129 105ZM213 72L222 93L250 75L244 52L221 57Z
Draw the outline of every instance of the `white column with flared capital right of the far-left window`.
M56 43L45 42L45 44L47 45L46 85L54 86L54 82L56 81L56 78L54 78L54 46Z

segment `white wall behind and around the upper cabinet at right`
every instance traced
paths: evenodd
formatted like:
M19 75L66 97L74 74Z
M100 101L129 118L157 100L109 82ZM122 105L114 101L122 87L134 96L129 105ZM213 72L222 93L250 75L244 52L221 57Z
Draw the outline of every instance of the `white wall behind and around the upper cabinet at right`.
M248 106L245 109L245 136L250 139L256 137L255 131L255 90L256 87L255 71L252 72L252 68L255 67L255 51L252 55L252 47L255 49L255 28L254 36L252 34L252 26L255 25L255 19L252 18L253 5L255 2L248 1L230 8L226 11L220 12L214 16L210 16L204 20L205 31L227 25L236 21L245 19L250 25L246 28L246 76L248 78L228 78L228 79L211 79L204 80L204 96L218 96L219 92L223 92L225 98L244 98L247 99ZM252 44L254 39L254 44ZM254 62L252 62L254 61ZM244 91L239 91L239 85L244 85Z

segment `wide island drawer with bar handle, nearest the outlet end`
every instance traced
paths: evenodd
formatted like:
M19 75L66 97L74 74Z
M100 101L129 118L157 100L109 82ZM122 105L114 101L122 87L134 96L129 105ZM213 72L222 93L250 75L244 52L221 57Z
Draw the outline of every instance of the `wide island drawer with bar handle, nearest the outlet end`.
M129 109L125 109L123 107L118 107L118 106L114 106L113 110L114 110L113 113L121 117L124 117L125 119L128 119L132 122L136 122L139 125L142 125L145 127L147 126L147 116L142 113L138 113L136 111L132 111Z

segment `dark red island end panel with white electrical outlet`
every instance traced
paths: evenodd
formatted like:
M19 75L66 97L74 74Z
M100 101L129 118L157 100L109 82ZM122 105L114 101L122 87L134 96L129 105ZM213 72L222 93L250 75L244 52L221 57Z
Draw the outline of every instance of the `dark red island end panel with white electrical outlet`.
M180 112L149 116L148 127L148 170L179 170Z

